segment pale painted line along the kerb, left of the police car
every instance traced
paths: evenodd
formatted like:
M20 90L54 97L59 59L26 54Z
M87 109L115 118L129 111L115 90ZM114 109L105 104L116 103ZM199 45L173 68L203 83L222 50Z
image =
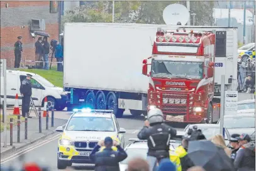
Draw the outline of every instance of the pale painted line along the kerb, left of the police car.
M43 145L45 145L47 143L50 143L50 141L53 141L53 140L59 138L60 135L61 135L61 133L58 134L58 135L53 136L52 138L50 138L48 140L45 140L45 141L41 142L40 144L36 143L35 145L30 146L29 148L26 148L25 150L22 150L21 152L15 153L14 155L11 155L11 156L9 156L7 158L4 158L3 160L1 160L1 164L9 162L10 160L13 160L14 158L18 158L19 156L21 156L21 155L23 155L25 153L28 153L28 152L30 152L32 150L35 150L35 148L38 148L38 147L43 146Z

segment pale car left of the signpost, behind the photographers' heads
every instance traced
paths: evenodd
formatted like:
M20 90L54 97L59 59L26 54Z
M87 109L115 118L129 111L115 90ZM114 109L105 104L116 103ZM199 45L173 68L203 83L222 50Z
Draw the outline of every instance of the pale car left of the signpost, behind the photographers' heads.
M198 126L198 129L202 130L203 135L206 139L213 137L216 134L220 134L220 124L188 124L184 129L184 132L187 133L189 128L193 128L193 126ZM222 135L222 133L221 133ZM225 129L225 143L228 145L230 142L230 133Z

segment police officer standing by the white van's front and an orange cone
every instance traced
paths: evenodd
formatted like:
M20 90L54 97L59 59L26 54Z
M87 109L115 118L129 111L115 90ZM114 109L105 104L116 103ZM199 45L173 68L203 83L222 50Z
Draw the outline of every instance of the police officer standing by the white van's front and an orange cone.
M22 116L25 117L30 111L30 98L32 95L31 74L26 74L26 79L21 82L19 91L22 96Z

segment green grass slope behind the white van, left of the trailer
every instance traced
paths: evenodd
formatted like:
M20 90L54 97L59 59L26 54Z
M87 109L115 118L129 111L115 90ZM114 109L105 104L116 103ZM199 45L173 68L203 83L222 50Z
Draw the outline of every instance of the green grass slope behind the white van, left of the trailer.
M19 69L25 72L32 72L38 74L48 81L52 82L57 87L63 87L63 72L58 72L56 67L52 67L51 70L43 69Z

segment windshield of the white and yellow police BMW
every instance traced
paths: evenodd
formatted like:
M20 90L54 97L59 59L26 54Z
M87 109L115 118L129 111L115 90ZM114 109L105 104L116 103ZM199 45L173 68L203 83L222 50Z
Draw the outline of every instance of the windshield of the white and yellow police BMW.
M111 118L73 117L67 125L67 131L115 131Z

